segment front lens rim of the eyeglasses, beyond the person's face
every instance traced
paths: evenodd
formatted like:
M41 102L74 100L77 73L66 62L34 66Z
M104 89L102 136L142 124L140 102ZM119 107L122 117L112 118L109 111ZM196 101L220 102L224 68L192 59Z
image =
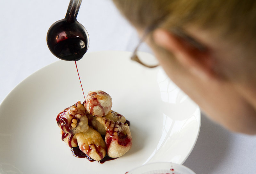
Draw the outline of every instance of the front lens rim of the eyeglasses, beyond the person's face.
M140 38L139 44L138 44L137 47L134 49L133 54L132 54L132 56L131 56L131 60L132 60L132 61L136 61L136 62L140 63L141 65L143 65L143 66L145 66L145 67L148 67L148 68L155 68L155 67L158 66L158 64L157 64L157 65L149 65L149 64L146 64L146 63L142 62L142 61L140 60L140 58L139 58L137 52L138 52L138 49L139 49L140 45L144 42L144 40L146 39L146 37L148 36L148 34L154 30L154 28L155 28L155 27L149 27L148 29L146 29L146 31L144 32L144 34L143 34L142 37Z

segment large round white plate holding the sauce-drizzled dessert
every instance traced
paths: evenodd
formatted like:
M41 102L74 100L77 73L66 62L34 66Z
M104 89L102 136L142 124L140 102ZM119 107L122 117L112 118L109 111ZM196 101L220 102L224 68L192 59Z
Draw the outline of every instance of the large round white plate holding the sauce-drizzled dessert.
M160 67L144 68L130 56L94 52L77 62L84 92L106 91L112 109L131 122L129 152L100 164L74 157L61 141L57 114L84 97L75 63L58 61L26 78L1 103L0 173L110 174L159 161L182 164L199 133L199 107Z

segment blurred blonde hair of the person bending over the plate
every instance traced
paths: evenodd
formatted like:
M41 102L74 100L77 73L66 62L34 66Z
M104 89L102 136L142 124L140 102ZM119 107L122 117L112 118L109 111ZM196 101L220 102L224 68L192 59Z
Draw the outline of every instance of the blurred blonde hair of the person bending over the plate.
M197 25L224 39L256 45L255 0L113 0L137 28Z

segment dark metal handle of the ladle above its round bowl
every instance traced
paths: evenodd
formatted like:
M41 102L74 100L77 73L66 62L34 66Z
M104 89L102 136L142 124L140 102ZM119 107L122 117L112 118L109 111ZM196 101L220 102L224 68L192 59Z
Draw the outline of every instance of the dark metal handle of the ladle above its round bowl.
M65 19L69 22L75 22L82 0L70 0Z

